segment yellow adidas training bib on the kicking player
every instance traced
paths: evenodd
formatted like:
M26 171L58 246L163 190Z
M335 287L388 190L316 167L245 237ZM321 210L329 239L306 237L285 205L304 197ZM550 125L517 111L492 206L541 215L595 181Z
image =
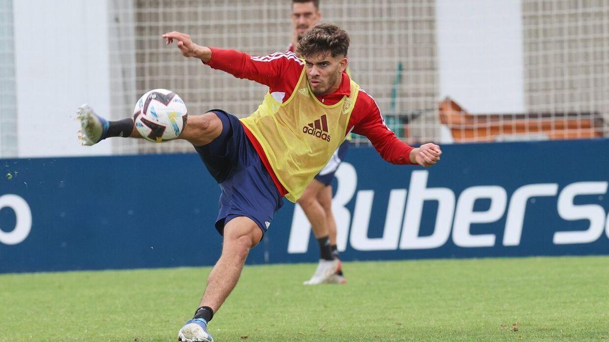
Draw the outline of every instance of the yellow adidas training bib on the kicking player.
M267 93L252 115L241 122L256 137L275 175L295 202L345 140L359 85L351 81L350 96L328 106L313 94L306 68L286 102Z

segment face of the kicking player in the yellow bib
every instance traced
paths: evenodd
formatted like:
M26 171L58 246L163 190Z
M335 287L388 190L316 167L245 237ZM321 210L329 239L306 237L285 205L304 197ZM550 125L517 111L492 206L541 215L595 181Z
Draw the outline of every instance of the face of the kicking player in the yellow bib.
M321 96L336 91L342 80L342 72L347 68L347 58L343 55L332 57L320 52L305 57L306 75L313 94Z

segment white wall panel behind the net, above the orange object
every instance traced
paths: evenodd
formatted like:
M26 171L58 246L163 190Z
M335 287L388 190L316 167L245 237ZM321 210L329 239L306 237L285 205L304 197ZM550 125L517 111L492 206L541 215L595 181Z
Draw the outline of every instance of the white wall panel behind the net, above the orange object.
M440 96L474 114L523 113L520 0L437 0Z

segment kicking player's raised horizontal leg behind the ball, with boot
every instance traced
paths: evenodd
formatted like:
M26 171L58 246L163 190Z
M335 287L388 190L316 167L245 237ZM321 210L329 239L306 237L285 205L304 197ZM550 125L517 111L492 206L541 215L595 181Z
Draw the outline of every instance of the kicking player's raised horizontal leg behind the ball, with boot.
M80 120L79 139L83 145L94 145L106 138L142 138L133 124L133 119L110 121L95 113L89 105L80 106L77 112ZM209 144L222 133L222 121L216 113L208 112L199 116L189 116L186 127L178 139L184 139L195 146Z

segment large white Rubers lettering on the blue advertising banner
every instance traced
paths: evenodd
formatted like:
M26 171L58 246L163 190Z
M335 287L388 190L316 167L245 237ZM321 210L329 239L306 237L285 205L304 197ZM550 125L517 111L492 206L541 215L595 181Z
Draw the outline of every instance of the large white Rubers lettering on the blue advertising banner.
M603 195L607 194L609 187L607 181L571 183L560 192L557 183L524 184L518 187L511 197L508 196L505 188L499 185L466 187L460 194L455 194L448 187L428 187L429 172L415 170L410 176L407 190L390 191L386 214L382 214L385 215L382 236L370 238L368 237L370 217L382 213L382 208L377 210L373 207L375 190L356 191L357 173L347 162L340 164L336 176L339 186L332 203L340 251L344 251L347 247L347 240L351 248L358 251L424 250L442 247L451 236L452 242L461 248L488 248L501 243L503 246L519 246L523 236L527 205L533 203L535 197L551 197L552 199L547 198L547 200L557 201L558 212L540 213L529 210L530 215L549 215L548 218L555 217L554 220L560 217L567 222L583 221L583 224L578 222L580 226L571 231L566 231L561 226L554 227L554 232L551 232L554 245L595 242L600 239L603 232L609 237L609 215L602 204L576 204L576 197L586 195L588 197L594 195L595 200L597 198L601 201ZM401 186L401 183L398 184ZM474 211L474 203L479 199L490 200L487 210ZM508 200L509 205L506 205ZM354 210L351 219L347 204L353 205L353 201ZM423 206L426 201L436 201L438 206L435 215L426 214L423 220ZM504 216L505 225L499 225L498 222ZM488 224L491 232L471 233L471 225L483 223ZM427 226L433 227L431 234L420 236L421 231L430 230L426 229ZM497 242L497 234L501 234L501 231L503 231L502 242ZM537 232L527 232L526 236L530 237L531 234ZM296 206L288 253L306 253L309 236L311 236L311 226L302 209Z

